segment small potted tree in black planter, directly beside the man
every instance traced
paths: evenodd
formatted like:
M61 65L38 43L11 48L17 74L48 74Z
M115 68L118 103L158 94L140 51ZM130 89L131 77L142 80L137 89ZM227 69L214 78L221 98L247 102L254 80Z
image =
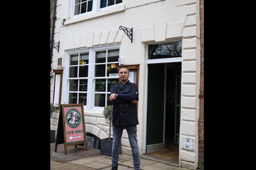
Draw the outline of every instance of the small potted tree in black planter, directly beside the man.
M100 154L106 156L112 156L112 143L113 138L111 137L111 126L112 126L112 109L113 106L106 106L103 110L103 115L105 117L105 122L109 124L109 134L108 138L100 139ZM121 145L119 147L119 154L122 153Z

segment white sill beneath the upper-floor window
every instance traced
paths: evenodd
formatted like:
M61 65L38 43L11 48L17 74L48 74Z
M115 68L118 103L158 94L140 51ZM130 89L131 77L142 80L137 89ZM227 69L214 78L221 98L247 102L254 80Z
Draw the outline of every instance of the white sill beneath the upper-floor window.
M111 14L115 14L115 13L119 13L119 12L124 12L124 10L125 10L125 4L122 4L122 5L115 6L113 8L109 8L106 10L92 12L92 13L84 14L84 15L77 16L77 17L75 16L74 18L70 18L70 19L66 20L64 25L70 25L73 23L81 22L81 21L100 18L103 16L107 16L107 15L111 15Z

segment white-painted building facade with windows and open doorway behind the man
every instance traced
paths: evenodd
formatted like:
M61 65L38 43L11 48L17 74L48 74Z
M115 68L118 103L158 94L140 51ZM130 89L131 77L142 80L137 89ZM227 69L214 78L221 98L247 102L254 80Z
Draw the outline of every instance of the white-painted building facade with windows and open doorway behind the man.
M86 133L107 138L102 111L118 69L128 66L139 88L140 154L175 145L180 167L203 169L203 1L54 3L51 129L57 131L61 104L82 103ZM121 143L131 154L126 131Z

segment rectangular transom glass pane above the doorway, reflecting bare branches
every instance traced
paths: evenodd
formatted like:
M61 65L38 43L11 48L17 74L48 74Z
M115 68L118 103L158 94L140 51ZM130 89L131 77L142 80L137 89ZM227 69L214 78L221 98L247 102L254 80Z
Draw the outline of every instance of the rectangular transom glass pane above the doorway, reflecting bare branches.
M182 56L182 42L148 45L148 59L164 59Z

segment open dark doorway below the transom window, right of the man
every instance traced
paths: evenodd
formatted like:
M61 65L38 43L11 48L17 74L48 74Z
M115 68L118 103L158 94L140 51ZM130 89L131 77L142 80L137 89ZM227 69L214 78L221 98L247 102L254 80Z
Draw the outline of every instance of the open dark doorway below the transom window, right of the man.
M178 160L181 62L148 64L146 153Z

